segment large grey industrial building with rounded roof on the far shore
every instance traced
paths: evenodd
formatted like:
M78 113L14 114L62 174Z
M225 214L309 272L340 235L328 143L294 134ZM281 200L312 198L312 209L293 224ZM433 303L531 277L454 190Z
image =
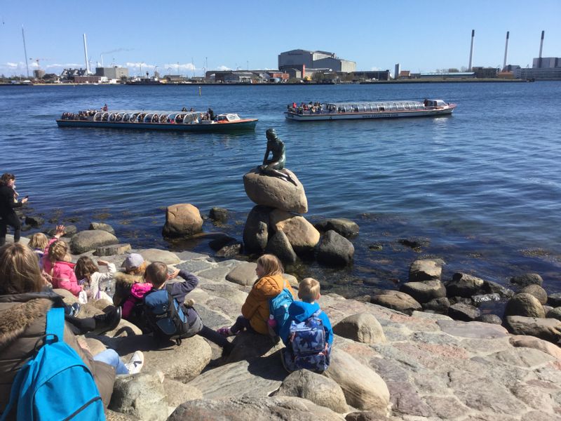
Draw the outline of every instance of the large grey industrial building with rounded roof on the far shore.
M338 58L335 53L327 51L291 50L278 55L280 71L297 69L306 76L306 69L331 69L332 72L352 73L356 70L356 62Z

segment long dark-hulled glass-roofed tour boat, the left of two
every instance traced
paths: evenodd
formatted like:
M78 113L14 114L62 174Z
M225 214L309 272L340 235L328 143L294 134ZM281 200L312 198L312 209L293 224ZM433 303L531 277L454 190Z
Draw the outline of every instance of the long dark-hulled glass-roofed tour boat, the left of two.
M57 124L59 127L225 132L255 130L257 119L242 119L234 113L218 114L211 119L208 112L87 109L65 112Z

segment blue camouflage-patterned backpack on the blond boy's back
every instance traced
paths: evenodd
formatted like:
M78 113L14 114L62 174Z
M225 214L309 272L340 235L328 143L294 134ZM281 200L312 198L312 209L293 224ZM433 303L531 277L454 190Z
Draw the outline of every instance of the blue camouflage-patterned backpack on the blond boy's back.
M284 353L285 366L290 371L306 370L322 373L330 364L330 347L326 346L321 310L300 323L290 322L288 341Z

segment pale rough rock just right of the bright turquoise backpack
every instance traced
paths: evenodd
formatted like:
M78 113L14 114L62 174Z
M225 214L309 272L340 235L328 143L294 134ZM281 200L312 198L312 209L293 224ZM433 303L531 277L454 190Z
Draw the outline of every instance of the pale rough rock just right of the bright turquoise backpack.
M139 420L164 421L168 417L165 391L156 373L117 376L109 408Z

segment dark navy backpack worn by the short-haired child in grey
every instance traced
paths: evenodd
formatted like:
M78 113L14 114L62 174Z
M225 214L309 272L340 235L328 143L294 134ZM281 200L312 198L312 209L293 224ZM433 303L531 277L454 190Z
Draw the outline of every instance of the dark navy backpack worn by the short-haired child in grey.
M182 338L189 337L187 315L165 288L153 289L144 295L144 316L156 339L175 340L181 345Z

